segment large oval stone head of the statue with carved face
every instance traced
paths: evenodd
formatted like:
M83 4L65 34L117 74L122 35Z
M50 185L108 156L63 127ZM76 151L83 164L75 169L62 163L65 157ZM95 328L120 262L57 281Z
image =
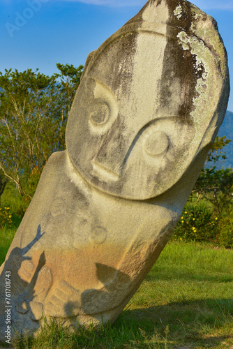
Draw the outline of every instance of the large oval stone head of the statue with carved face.
M174 186L201 152L204 162L229 80L216 22L194 8L148 1L89 55L66 144L77 171L101 191L146 200Z

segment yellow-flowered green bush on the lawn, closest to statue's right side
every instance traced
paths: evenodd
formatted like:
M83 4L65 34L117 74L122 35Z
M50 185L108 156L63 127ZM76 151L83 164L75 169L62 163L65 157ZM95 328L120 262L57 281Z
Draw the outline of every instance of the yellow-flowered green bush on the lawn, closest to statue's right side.
M172 239L184 241L209 242L218 234L218 217L213 216L206 205L186 204Z

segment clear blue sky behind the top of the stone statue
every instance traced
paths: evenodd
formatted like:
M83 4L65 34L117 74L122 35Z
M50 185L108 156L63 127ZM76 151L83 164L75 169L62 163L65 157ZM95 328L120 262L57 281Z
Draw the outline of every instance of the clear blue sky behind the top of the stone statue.
M56 63L79 66L89 52L135 15L146 0L1 0L0 70L39 68ZM194 0L212 15L227 48L233 76L233 0ZM233 112L233 87L228 110Z

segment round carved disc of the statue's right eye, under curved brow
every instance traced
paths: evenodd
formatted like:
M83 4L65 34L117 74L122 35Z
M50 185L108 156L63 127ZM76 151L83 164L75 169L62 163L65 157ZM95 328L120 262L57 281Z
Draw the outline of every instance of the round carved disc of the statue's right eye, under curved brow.
M147 155L158 156L167 150L169 139L163 131L151 132L144 142L144 151Z

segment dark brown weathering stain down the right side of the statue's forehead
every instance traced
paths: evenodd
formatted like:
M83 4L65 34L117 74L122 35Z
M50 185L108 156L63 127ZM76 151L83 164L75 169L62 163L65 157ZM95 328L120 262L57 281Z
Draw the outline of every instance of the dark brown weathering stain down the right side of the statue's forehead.
M161 77L160 87L160 105L163 110L167 105L172 103L172 94L170 86L174 80L179 82L181 89L182 103L179 106L178 117L184 124L193 124L193 117L190 113L194 110L193 98L197 97L195 90L197 80L202 77L204 67L198 67L195 54L192 54L191 48L183 50L181 43L176 37L180 31L190 33L190 27L193 23L193 13L190 9L192 6L188 1L166 0L169 8L169 20L167 22L167 45L165 48L165 56L163 60L163 73ZM176 6L182 6L181 17L177 19L174 15ZM167 81L171 81L171 85L167 87Z

